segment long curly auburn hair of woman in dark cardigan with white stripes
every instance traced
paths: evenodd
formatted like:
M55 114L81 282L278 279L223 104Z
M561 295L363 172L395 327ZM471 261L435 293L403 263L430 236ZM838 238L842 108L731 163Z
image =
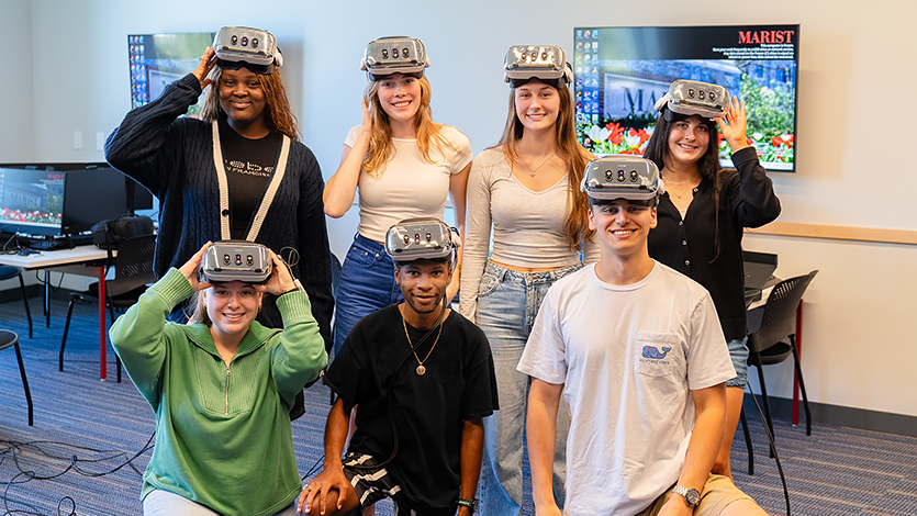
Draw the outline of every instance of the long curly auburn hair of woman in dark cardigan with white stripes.
M280 69L275 67L273 71L267 75L256 74L258 82L261 85L261 90L265 92L265 100L267 101L267 109L265 110L265 123L271 133L280 133L289 136L291 139L300 139L299 125L297 123L297 115L290 109L290 101L287 100L287 89L283 88L283 80L280 77ZM220 79L223 77L223 70L220 67L214 67L211 72L211 85L204 97L204 105L201 109L201 120L212 122L214 120L225 120L226 112L220 105Z

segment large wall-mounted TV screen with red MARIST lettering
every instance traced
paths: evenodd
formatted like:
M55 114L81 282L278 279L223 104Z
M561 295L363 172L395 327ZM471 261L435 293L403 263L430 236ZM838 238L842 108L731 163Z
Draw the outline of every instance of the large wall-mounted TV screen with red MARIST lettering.
M799 25L577 27L573 40L577 131L596 155L642 155L657 99L691 79L745 100L761 165L795 171ZM720 141L723 166L730 154Z

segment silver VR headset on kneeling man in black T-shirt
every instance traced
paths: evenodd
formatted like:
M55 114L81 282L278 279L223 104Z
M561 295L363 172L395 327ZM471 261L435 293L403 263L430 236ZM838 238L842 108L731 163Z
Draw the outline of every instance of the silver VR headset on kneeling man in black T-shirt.
M437 218L407 218L389 228L385 253L396 262L451 257L461 246L458 229Z

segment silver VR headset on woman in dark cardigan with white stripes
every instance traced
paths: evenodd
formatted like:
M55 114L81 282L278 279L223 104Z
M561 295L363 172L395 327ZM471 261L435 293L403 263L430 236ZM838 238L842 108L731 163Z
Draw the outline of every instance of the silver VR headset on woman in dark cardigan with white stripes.
M224 26L213 38L213 49L216 66L224 70L245 67L255 74L268 75L275 66L283 65L273 34L258 29Z

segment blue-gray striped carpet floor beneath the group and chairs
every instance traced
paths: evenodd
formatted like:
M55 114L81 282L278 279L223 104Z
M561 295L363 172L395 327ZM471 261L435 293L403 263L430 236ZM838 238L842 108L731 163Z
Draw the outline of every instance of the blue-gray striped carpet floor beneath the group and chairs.
M51 328L40 315L41 301L32 299L31 305L32 339L22 302L0 303L0 327L21 336L35 404L35 426L29 427L15 354L0 351L0 516L141 514L139 472L149 458L143 450L154 430L149 406L126 374L123 383L114 381L111 348L109 380L99 381L94 305L75 309L63 372L57 370L57 354L66 301L53 301ZM306 392L306 415L293 423L301 474L321 465L327 408L325 388ZM917 515L917 438L829 425L815 425L807 437L803 426L785 420L775 425L792 514ZM786 514L757 416L750 427L756 474L747 474L739 429L731 457L736 483L770 514ZM534 513L528 490L526 484L525 515ZM381 504L377 514L390 515L391 506Z

